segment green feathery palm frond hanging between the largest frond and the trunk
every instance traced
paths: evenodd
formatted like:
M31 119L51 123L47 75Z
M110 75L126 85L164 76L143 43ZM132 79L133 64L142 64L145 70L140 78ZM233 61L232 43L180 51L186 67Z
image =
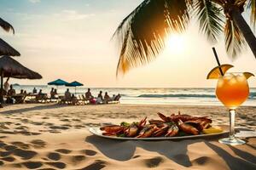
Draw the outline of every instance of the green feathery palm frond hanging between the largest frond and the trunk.
M198 16L200 31L207 36L210 42L217 42L217 37L223 31L224 14L210 0L197 0L195 14Z

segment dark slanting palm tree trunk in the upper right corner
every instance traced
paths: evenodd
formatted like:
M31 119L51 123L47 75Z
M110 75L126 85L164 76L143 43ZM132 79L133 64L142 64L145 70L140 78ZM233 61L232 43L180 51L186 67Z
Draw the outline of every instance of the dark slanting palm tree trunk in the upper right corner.
M232 10L231 14L256 58L256 37L253 35L253 31L250 26L247 25L247 21L243 19L241 13L237 9Z

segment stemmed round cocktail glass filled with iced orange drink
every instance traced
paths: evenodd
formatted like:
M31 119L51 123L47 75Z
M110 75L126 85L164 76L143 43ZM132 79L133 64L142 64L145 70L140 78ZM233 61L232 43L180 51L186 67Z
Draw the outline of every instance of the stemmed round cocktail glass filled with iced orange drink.
M216 96L230 112L230 137L219 139L220 143L245 144L245 141L235 137L235 116L236 108L247 100L248 95L247 77L243 73L225 73L223 77L218 78Z

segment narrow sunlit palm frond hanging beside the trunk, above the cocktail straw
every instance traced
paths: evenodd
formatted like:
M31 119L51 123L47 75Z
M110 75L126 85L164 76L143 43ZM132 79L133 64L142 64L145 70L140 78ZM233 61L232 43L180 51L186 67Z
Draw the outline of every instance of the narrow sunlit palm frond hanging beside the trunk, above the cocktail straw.
M233 20L226 20L224 35L226 51L231 58L235 59L237 54L240 54L245 47L245 38Z

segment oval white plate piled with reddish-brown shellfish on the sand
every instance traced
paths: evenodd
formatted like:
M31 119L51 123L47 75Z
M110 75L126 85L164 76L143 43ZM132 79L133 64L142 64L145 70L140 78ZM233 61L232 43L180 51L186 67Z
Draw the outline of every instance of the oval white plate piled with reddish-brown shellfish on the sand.
M191 139L229 133L224 126L212 126L212 119L207 116L157 114L159 120L147 121L144 117L140 122L108 123L102 127L90 127L89 130L103 138L125 140Z

